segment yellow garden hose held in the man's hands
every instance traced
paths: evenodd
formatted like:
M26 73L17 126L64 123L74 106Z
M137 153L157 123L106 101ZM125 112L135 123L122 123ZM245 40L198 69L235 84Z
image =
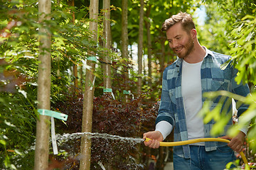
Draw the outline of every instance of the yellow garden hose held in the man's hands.
M146 142L149 142L149 138L146 137ZM180 141L180 142L160 142L161 147L174 147L174 146L180 146L180 145L188 145L188 144L193 144L193 143L198 143L198 142L226 142L229 143L229 140L221 139L221 138L200 138L196 140L185 140L185 141ZM245 164L248 164L247 159L245 157L245 154L243 152L240 152L240 155L242 157L242 161Z

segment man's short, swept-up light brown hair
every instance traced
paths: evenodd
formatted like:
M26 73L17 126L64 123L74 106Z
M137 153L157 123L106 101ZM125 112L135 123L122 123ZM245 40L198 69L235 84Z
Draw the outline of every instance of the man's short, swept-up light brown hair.
M161 30L166 31L171 28L171 26L174 26L176 23L181 23L181 26L188 33L193 28L196 29L192 16L188 13L179 12L176 15L171 16L171 18L166 19L166 21L164 21L162 25Z

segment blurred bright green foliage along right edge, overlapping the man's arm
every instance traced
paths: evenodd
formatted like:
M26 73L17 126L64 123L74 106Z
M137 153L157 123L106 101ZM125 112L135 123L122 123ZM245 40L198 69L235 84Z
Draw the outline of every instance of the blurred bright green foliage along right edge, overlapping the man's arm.
M229 2L229 1L228 1ZM227 2L227 3L228 3ZM240 1L242 4L242 1ZM230 5L229 5L230 6ZM242 6L244 7L244 6ZM252 95L247 96L247 98L242 98L242 97L237 97L234 96L233 94L227 94L229 97L235 97L238 101L245 102L247 104L253 105L255 98L254 96L254 90L253 86L255 85L255 23L256 23L256 18L255 18L255 4L251 3L251 6L248 7L246 6L245 9L247 9L247 13L252 13L246 14L245 10L242 10L241 6L237 6L238 9L235 9L237 11L240 11L239 13L236 13L233 17L230 17L230 21L237 21L233 25L233 30L229 33L230 39L233 38L233 42L230 43L230 54L232 55L232 63L235 66L236 69L238 69L238 77L236 77L236 81L240 83L247 83L252 86ZM225 9L228 8L227 6L222 6L221 8ZM230 11L227 11L227 13L230 13ZM242 16L245 15L245 16ZM240 17L240 21L238 21L239 18L236 18L237 16ZM241 18L242 17L242 18ZM226 25L225 25L226 26ZM230 62L230 61L229 61ZM222 96L222 94L219 94L216 92L215 94L210 93L206 94L209 98L214 98L218 95ZM220 103L221 104L221 103ZM207 106L206 106L207 108ZM253 108L249 108L253 110ZM251 110L251 111L252 111ZM218 113L218 111L216 112ZM210 115L210 113L209 113ZM214 115L211 113L211 115ZM252 114L250 114L252 116ZM217 115L214 115L215 118L223 118L219 116L219 113ZM252 116L253 117L253 116ZM247 119L251 120L251 119ZM220 126L221 127L221 126ZM219 128L220 128L219 127Z

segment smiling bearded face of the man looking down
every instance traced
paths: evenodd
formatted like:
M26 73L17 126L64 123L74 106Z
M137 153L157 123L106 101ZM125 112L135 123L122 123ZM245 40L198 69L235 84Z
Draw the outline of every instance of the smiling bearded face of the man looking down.
M191 35L184 30L181 23L176 23L166 31L166 37L169 46L179 58L185 59L194 50L193 39Z

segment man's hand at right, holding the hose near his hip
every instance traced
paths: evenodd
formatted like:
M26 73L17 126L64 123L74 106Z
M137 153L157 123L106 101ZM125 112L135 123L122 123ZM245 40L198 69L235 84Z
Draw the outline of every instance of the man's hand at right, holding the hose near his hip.
M245 142L245 133L240 131L238 135L233 137L232 139L228 136L223 136L220 138L223 138L225 140L230 140L230 142L228 143L228 147L233 149L235 152L238 152L238 153L242 152L243 143Z

